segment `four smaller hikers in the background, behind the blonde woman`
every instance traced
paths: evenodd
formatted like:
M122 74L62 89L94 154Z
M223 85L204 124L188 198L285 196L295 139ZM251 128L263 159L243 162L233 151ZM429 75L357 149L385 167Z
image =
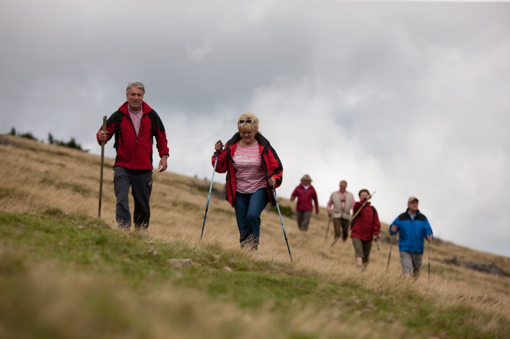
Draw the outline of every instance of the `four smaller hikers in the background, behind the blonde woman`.
M327 204L329 223L333 220L334 242L342 238L347 241L351 231L352 245L356 258L356 267L365 270L370 258L372 242L379 240L381 223L372 198L367 189L358 192L359 201L347 191L347 181L340 181L340 189L331 193ZM308 231L310 218L315 207L319 214L317 192L308 174L301 178L301 183L292 192L291 201L296 203L296 220L300 231ZM400 233L399 250L402 273L405 276L418 277L422 266L423 241L431 242L433 233L427 217L419 209L419 200L410 197L407 210L400 214L390 225L389 233L394 236ZM326 231L327 232L327 231ZM326 234L327 236L327 234Z

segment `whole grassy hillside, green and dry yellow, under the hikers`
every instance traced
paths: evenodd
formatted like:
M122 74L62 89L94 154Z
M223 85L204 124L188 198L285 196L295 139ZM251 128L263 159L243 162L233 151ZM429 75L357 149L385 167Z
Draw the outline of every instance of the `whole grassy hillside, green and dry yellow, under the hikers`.
M122 232L112 159L98 220L98 156L2 135L0 158L0 338L510 337L510 258L436 241L412 282L397 246L386 273L383 233L361 273L324 210L308 233L284 217L294 262L270 210L244 252L222 185L199 243L209 182L173 173L154 174L149 234Z

